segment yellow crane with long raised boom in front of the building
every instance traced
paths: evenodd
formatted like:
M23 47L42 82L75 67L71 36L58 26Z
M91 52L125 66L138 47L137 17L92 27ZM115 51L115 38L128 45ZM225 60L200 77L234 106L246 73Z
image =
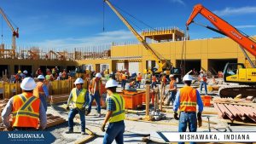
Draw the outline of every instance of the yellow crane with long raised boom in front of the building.
M166 73L170 73L171 63L168 62L163 56L159 55L154 49L152 49L149 46L149 44L143 39L143 37L136 32L136 30L130 25L130 23L127 20L125 20L124 16L120 14L119 11L113 7L112 3L110 3L108 0L103 0L103 1L108 4L108 6L113 10L115 14L118 15L119 19L124 22L125 26L127 26L129 30L135 35L135 37L137 37L137 40L143 44L145 49L147 49L150 52L150 54L153 55L154 60L158 65L158 68L152 69L152 70L144 70L143 73L153 72L154 74L160 74L160 72L165 72L165 71Z

